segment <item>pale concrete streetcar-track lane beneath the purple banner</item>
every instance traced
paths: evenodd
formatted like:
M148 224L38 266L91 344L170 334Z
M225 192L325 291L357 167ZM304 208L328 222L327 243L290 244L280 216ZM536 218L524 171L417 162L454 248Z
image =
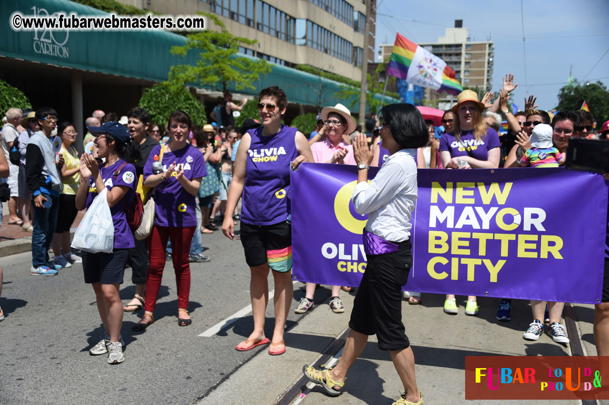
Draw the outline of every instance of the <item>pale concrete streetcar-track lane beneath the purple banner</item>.
M299 284L295 285L297 287ZM295 300L302 292L295 288ZM247 403L271 405L278 401L302 375L304 364L315 362L334 338L345 330L354 293L340 293L346 311L334 314L328 303L315 306L310 314L287 331L287 351L273 358L259 350L252 360L196 404ZM463 369L465 356L569 356L569 348L557 344L546 333L536 342L525 341L523 333L530 323L529 303L513 300L512 321L499 322L495 314L499 299L479 298L479 316L466 316L465 297L457 297L459 314L443 313L444 297L423 294L421 305L403 302L403 319L416 359L417 383L425 404L521 404L522 401L466 401ZM316 302L317 303L317 302ZM592 338L593 305L574 305L582 345L588 355L596 355ZM269 314L267 314L267 317ZM238 356L239 353L235 352ZM311 384L308 384L310 387ZM304 386L303 386L304 388ZM339 397L326 395L320 386L305 389L293 405L391 404L403 389L389 353L381 351L371 336L361 357L353 365ZM283 391L283 392L282 392ZM286 402L282 402L282 404ZM555 404L556 401L535 401ZM561 401L580 404L579 401ZM601 404L606 403L600 401Z

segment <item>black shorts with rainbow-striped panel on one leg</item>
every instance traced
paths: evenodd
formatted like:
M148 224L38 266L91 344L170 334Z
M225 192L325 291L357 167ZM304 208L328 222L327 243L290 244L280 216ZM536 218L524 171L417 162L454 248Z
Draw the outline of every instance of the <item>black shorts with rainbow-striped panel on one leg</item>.
M292 269L292 225L287 221L272 225L252 225L241 221L241 244L250 267L269 263L281 273Z

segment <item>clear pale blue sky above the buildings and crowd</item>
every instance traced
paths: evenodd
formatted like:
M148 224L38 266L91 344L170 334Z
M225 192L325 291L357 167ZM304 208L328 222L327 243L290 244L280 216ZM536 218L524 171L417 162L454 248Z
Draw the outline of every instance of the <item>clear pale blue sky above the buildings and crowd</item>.
M487 41L491 36L495 44L492 91L499 91L502 77L512 73L518 83L512 100L519 109L530 94L537 97L541 109L554 108L571 65L573 77L580 82L600 79L609 87L608 0L523 4L521 13L521 2L516 1L377 0L375 55L379 44L395 42L396 32L414 43L436 42L446 28L454 27L455 19L462 19L471 41ZM590 109L594 114L594 106Z

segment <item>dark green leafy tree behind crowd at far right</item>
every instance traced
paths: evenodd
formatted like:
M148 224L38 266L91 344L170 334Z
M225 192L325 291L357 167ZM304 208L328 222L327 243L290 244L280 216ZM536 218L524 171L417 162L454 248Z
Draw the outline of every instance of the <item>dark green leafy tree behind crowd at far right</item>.
M558 106L556 109L558 111L565 109L576 111L582 108L584 101L588 104L597 127L609 120L609 92L600 81L586 85L586 83L573 80L572 85L566 85L558 92Z

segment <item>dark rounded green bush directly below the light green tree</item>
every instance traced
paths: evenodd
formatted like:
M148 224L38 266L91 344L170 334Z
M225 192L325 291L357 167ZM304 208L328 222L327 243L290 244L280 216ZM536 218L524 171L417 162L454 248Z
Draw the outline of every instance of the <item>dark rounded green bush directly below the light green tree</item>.
M177 109L186 112L196 126L207 123L205 108L188 91L188 88L172 85L166 81L155 83L152 88L146 89L139 99L139 106L148 111L150 122L156 122L161 126L169 121L169 116Z

